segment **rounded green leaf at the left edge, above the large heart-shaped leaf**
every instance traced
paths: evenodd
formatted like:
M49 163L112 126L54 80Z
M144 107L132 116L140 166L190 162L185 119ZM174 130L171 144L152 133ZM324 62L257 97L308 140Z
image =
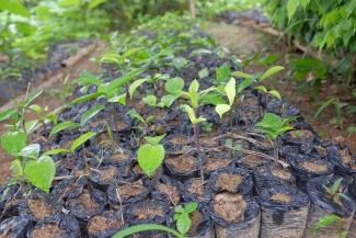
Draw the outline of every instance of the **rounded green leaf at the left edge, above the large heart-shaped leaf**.
M18 154L26 146L26 134L23 131L8 132L1 137L2 148L13 156L18 156Z

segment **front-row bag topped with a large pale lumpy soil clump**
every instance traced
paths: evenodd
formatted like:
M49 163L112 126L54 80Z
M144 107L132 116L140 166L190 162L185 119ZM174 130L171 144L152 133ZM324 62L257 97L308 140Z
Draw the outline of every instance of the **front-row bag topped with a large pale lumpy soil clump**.
M230 192L216 194L211 218L216 224L216 237L259 237L260 205L251 195Z

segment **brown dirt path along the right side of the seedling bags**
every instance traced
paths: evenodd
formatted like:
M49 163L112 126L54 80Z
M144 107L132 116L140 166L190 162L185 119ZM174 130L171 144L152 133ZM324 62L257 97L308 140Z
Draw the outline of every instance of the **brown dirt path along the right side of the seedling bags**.
M348 125L356 122L355 118L344 113L344 124L342 126L335 126L335 124L331 122L336 116L335 105L330 105L320 117L313 122L312 118L321 104L317 104L311 99L308 91L296 93L298 83L295 82L287 72L291 67L290 60L301 58L302 54L286 52L286 47L284 47L283 43L277 41L277 37L242 24L209 22L206 31L214 35L219 44L230 42L227 45L230 53L238 58L242 58L242 60L252 57L260 50L263 50L261 58L272 54L279 54L282 58L274 65L284 66L286 70L284 70L284 75L280 73L278 78L265 80L265 84L269 88L277 89L283 94L284 101L296 105L323 139L332 140L333 143L344 143L346 140L349 135L346 128ZM245 68L248 73L264 72L265 70L265 66L255 64L251 64ZM346 97L351 95L351 89L344 89L340 84L330 83L329 81L328 83L323 83L320 92L320 101L325 102L334 95L340 95L341 99L349 100L349 98ZM351 138L351 149L355 154L356 140Z

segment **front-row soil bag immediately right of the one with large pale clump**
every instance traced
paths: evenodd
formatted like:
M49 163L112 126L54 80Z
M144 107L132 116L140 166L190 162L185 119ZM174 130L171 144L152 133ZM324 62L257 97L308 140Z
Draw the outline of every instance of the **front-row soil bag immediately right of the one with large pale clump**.
M299 238L305 234L310 200L291 185L275 185L262 190L260 238Z

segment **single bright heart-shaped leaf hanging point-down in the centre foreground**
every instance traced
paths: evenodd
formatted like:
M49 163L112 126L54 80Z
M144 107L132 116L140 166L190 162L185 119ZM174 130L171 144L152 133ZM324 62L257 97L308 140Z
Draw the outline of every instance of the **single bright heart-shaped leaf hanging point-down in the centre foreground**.
M157 168L164 159L164 147L162 145L142 145L137 151L137 160L146 174L151 178Z

